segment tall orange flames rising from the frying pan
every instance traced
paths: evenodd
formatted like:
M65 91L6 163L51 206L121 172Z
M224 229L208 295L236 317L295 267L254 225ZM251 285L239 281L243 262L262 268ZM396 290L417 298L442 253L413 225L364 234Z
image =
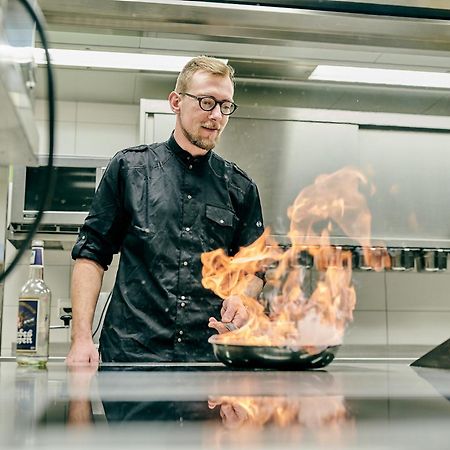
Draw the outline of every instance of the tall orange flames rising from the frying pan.
M222 249L202 254L203 286L222 299L241 296L250 314L246 325L213 336L214 342L287 346L310 353L342 342L356 304L352 252L332 245L330 234L347 235L357 242L365 264L374 270L390 264L386 249L371 247L371 214L359 190L367 184L354 168L319 176L288 209L291 245L287 250L266 229L233 257ZM311 293L305 266L299 263L305 255L312 258L318 275ZM264 293L269 311L246 294L257 272L266 273Z

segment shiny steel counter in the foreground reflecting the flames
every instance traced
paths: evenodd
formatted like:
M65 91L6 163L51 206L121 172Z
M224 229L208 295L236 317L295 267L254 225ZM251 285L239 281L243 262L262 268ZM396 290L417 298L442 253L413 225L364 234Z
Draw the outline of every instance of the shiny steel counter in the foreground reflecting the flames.
M411 362L411 361L410 361ZM0 362L5 449L444 449L450 371L404 360L326 370L215 364L104 365L68 371Z

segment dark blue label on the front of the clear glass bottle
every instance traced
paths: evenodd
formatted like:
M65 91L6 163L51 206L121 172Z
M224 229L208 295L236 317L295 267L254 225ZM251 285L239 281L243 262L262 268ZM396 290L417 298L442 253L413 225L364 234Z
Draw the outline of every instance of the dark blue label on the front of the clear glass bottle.
M35 352L37 350L38 312L39 312L38 299L29 299L29 298L19 299L16 351Z

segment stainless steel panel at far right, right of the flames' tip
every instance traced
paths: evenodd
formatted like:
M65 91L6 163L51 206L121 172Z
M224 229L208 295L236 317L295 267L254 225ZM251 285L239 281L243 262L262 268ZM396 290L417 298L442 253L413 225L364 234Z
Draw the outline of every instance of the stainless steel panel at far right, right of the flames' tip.
M450 247L450 132L359 131L374 238L386 244Z

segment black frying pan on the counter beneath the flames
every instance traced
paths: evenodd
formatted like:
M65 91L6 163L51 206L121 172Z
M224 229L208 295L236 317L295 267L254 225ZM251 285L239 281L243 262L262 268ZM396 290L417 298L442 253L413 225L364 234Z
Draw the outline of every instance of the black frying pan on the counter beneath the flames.
M215 342L213 338L214 336L209 342L219 361L230 367L247 369L320 369L333 361L339 348L339 345L327 346L318 353L311 354L305 348L294 350L279 346L223 344Z

